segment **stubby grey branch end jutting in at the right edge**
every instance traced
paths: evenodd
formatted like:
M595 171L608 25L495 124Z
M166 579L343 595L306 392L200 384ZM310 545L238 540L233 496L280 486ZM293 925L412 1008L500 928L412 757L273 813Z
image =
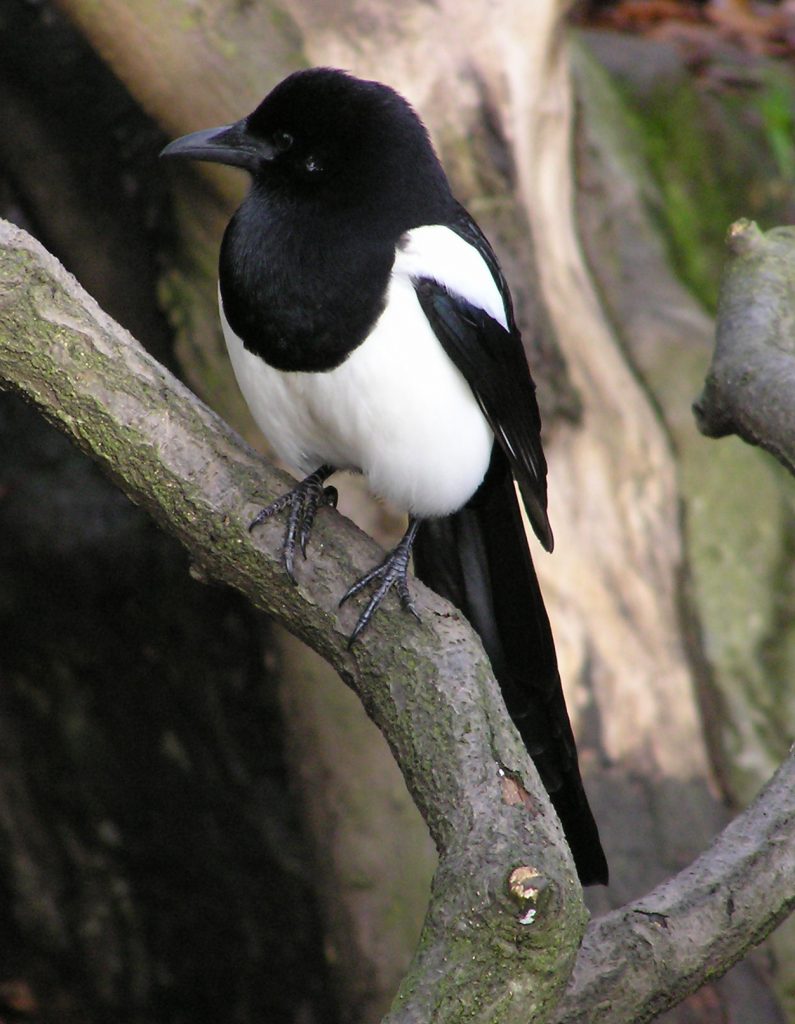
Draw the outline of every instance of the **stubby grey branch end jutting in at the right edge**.
M710 437L736 433L795 472L795 228L739 220L718 302L712 366L695 404Z

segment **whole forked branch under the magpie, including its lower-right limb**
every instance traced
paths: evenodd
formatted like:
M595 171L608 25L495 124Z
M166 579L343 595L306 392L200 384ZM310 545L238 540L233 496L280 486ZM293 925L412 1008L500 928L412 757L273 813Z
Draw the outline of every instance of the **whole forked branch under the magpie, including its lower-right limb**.
M324 655L380 726L440 848L422 941L389 1024L550 1019L583 929L574 868L477 640L414 583L422 627L380 615L353 649L344 584L372 542L320 516L298 586L256 505L287 480L0 222L0 380L189 549ZM795 762L689 868L587 931L555 1020L648 1020L725 971L795 903ZM531 828L528 826L531 825ZM531 830L532 829L532 830ZM535 913L529 912L535 911ZM532 923L531 923L532 922Z

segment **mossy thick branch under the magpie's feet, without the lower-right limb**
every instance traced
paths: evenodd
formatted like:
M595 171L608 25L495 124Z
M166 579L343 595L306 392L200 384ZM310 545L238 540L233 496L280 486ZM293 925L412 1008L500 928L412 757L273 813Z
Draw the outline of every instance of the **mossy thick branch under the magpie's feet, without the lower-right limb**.
M582 934L581 894L462 618L415 583L423 625L381 614L348 651L357 611L336 602L377 557L372 542L324 511L292 586L280 563L283 527L247 529L255 501L283 492L284 476L8 224L0 224L0 380L174 534L198 571L238 588L322 653L383 730L441 854L420 951L389 1020L546 1019Z

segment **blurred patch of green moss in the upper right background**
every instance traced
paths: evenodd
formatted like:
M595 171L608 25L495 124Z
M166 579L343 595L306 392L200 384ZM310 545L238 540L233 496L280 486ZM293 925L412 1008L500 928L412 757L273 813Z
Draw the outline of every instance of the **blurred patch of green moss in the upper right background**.
M763 66L743 89L686 75L623 100L662 204L656 211L679 278L714 310L726 227L739 217L789 219L795 181L795 80Z

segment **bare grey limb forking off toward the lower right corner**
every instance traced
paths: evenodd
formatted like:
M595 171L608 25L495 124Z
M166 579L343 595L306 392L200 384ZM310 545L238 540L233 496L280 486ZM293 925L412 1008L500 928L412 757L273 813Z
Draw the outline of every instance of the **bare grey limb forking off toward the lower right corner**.
M795 907L795 754L687 868L586 932L557 1024L642 1024Z

